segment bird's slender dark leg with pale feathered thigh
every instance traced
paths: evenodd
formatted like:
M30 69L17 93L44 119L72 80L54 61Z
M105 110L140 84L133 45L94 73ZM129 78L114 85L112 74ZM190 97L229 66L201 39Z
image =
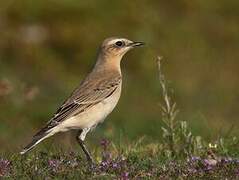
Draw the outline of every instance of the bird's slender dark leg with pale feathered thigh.
M80 144L82 150L84 151L85 155L86 155L86 158L87 160L93 164L93 158L91 157L89 151L87 150L86 146L85 146L85 143L84 143L84 140L85 140L85 136L86 134L88 133L88 131L90 130L90 128L85 128L83 130L80 130L76 136L76 140L77 142Z

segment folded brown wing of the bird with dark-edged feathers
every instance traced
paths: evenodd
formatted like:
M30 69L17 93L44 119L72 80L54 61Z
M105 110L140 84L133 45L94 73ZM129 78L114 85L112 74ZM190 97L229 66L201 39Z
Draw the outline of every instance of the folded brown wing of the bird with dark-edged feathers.
M69 117L84 112L88 108L109 97L119 87L121 76L86 80L57 110L47 125L35 136L42 135Z

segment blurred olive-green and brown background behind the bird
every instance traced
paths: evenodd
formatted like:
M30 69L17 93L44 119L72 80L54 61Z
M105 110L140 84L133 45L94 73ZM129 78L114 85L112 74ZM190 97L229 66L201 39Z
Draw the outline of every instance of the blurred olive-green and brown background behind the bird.
M16 152L30 140L111 36L147 46L124 57L122 97L90 142L160 139L157 55L178 118L195 135L238 134L239 1L0 0L0 151ZM73 146L71 133L59 136L43 144Z

